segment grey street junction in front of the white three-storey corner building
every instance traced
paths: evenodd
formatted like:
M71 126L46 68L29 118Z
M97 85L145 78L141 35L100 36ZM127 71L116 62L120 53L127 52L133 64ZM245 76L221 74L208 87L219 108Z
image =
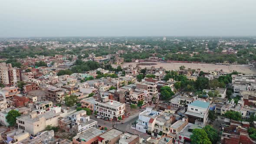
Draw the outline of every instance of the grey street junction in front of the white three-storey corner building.
M120 122L117 122L118 123L117 128L120 131L127 131L127 132L131 132L133 134L139 134L140 137L142 137L142 138L144 138L144 140L146 140L148 137L150 137L150 135L141 133L134 129L131 129L131 124L138 119L138 115L139 115L139 113L137 113L136 115L132 115L129 118L126 118L125 121L121 120ZM107 128L113 128L113 121L104 121L100 118L95 118L94 115L91 115L90 118L95 121L98 121L98 125L100 125L100 126L107 127ZM123 122L123 124L121 122Z

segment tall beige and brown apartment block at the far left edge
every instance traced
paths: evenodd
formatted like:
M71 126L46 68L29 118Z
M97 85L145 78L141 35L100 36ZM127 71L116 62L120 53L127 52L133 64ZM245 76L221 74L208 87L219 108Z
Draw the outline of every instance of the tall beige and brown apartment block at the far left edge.
M0 63L0 84L13 86L21 81L21 71L19 68L12 67L11 63Z

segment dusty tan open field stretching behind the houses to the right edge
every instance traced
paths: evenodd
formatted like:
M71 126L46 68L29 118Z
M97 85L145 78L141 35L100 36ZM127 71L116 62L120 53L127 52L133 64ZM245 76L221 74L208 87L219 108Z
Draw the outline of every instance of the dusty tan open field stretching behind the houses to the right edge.
M154 63L156 63L157 65L140 65L140 66L141 68L151 67L151 66L159 68L160 66L163 66L164 69L173 70L173 69L179 69L181 65L184 65L186 69L187 68L201 69L204 72L222 69L223 72L237 71L244 74L256 74L256 69L248 65L214 65L214 64L187 64L187 63L162 63L162 62L154 62ZM128 63L125 62L121 66L122 67L128 66L128 65L136 66L136 64L137 64L136 62L128 62ZM117 65L112 65L112 66L117 67Z

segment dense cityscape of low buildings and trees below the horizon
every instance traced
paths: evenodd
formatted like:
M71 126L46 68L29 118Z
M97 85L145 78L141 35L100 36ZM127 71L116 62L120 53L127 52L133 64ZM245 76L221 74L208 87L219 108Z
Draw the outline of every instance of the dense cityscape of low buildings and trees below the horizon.
M4 144L256 143L256 37L0 39Z

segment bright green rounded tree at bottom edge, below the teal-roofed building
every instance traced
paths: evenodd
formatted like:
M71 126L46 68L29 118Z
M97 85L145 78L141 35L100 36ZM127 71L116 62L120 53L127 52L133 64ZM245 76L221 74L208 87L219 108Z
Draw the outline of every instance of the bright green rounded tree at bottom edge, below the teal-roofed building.
M193 134L190 135L191 144L211 144L207 133L203 129L194 129Z

